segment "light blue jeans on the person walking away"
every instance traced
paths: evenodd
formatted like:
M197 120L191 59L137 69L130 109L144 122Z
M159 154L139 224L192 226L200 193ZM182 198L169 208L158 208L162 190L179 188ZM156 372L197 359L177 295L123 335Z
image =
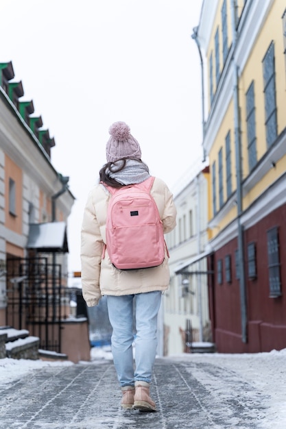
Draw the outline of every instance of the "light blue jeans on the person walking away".
M135 381L151 382L157 349L157 319L162 292L135 295L107 295L107 308L112 326L112 356L121 387ZM135 305L136 336L133 335ZM135 343L135 369L132 343Z

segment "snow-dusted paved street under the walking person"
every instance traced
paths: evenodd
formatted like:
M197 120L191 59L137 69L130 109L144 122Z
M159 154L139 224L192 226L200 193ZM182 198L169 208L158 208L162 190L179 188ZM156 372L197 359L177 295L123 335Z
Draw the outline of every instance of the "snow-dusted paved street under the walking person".
M121 410L112 360L35 363L21 376L13 360L15 376L6 381L10 363L2 360L1 429L286 428L285 350L158 358L151 389L157 413Z

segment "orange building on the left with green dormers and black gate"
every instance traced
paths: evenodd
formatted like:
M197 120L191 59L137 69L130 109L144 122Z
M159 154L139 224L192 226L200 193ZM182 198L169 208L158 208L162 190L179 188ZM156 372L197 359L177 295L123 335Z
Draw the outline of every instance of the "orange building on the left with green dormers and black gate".
M75 198L69 177L51 163L54 138L23 95L12 62L0 64L0 326L29 330L43 350L88 359L87 322L79 328L71 320L67 289L67 220ZM75 357L71 326L80 341L87 335L88 347L80 346L86 353Z

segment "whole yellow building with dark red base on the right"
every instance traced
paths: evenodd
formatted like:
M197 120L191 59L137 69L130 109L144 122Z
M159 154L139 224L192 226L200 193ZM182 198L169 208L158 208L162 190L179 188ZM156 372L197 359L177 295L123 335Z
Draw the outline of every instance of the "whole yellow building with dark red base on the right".
M286 4L204 0L208 265L219 352L286 347Z

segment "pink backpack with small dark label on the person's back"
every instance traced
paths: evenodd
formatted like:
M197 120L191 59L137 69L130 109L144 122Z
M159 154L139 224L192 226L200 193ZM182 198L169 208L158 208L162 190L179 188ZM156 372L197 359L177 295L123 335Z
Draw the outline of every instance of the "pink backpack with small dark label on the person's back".
M163 223L150 194L154 178L123 188L104 184L112 194L106 218L106 248L118 269L157 267L165 258Z

